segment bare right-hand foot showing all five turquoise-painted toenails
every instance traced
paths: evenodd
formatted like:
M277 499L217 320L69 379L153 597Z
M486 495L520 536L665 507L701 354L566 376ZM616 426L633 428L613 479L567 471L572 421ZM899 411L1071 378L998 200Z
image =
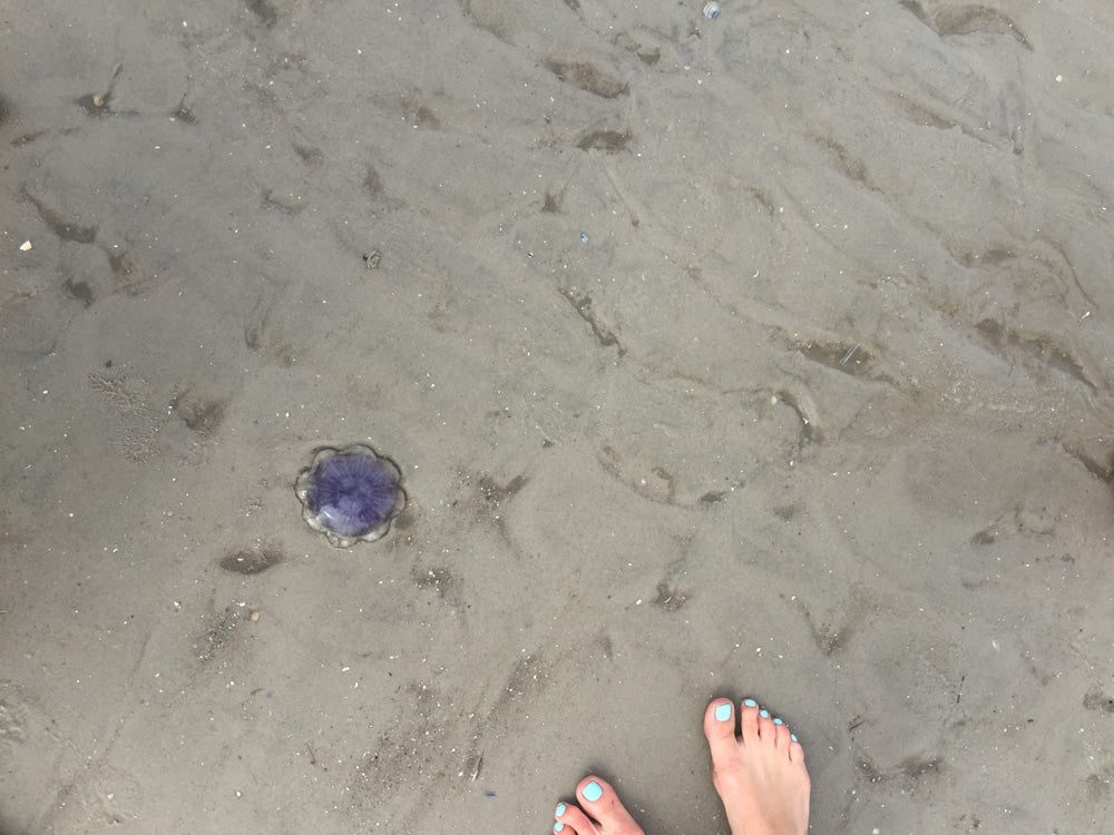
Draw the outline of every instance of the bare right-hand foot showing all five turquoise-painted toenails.
M771 718L753 699L743 701L739 724L741 735L727 699L715 699L704 714L712 783L732 835L804 835L811 785L804 749L781 719Z

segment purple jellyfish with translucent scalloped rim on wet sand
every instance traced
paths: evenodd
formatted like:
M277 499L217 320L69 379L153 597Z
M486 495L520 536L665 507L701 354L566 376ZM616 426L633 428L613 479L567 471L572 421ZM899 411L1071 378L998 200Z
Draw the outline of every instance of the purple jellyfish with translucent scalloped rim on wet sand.
M306 524L338 548L351 548L390 530L391 520L407 505L400 481L402 473L393 461L356 443L343 450L316 450L299 473L294 492Z

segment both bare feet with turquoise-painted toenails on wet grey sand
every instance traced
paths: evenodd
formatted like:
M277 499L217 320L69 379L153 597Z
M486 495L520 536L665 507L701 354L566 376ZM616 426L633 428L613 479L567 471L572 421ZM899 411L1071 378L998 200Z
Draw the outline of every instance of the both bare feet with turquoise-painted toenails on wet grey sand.
M781 719L753 699L744 699L737 711L727 699L715 699L704 711L704 736L712 753L712 783L732 835L808 832L804 749ZM606 780L585 777L576 797L578 806L557 804L557 835L644 835Z

